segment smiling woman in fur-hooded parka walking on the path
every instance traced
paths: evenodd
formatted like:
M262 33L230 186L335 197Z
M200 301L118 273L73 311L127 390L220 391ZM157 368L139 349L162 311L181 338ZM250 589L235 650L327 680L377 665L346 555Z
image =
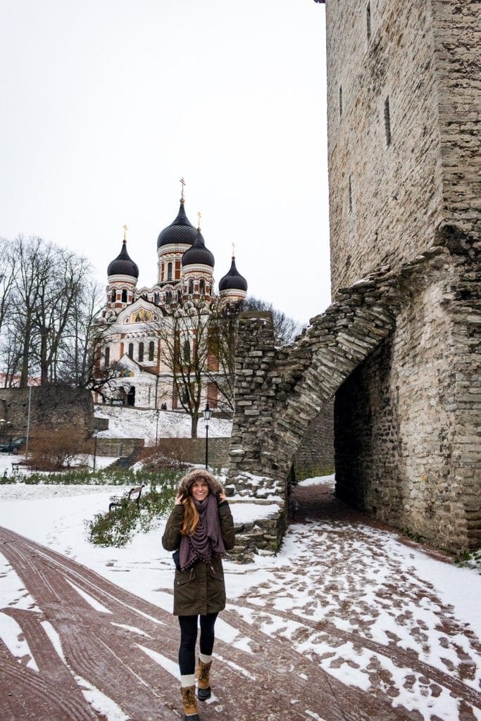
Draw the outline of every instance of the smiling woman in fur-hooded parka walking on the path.
M174 615L180 624L180 685L185 721L198 721L195 642L200 616L198 698L211 696L214 624L226 607L221 557L234 548L234 522L224 490L213 475L195 469L180 482L162 545L175 551Z

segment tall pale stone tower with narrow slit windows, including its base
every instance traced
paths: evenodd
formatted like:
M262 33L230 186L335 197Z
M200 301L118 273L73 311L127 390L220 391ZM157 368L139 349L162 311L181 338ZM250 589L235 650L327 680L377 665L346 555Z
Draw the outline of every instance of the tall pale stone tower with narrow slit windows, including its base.
M336 394L337 494L476 547L480 3L327 0L326 16L332 292L379 266L409 276L394 331Z

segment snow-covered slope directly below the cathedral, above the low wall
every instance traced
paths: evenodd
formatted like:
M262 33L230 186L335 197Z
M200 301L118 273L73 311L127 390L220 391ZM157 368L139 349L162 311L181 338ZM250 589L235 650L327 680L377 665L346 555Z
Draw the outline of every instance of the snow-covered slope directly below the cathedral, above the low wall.
M138 410L107 405L95 406L95 417L108 418L108 430L102 430L99 438L145 438L146 443L155 440L157 417L154 410ZM159 411L159 438L190 438L190 415L182 412ZM232 422L225 418L211 417L208 434L211 438L231 435ZM197 435L205 438L206 424L199 418Z

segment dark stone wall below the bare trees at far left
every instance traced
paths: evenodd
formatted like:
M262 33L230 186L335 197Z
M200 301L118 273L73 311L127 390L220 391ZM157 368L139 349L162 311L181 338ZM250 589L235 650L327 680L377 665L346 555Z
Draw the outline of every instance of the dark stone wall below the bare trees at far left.
M30 434L35 428L75 428L85 438L94 430L92 394L70 386L32 386L0 389L0 412L9 422L8 433L27 435L29 394ZM4 430L6 433L6 428Z

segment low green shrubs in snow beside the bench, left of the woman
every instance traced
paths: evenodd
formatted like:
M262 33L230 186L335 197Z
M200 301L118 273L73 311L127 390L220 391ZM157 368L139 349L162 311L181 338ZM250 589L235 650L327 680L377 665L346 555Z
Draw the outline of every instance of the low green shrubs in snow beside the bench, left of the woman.
M142 493L139 506L125 500L112 509L111 513L97 513L92 521L87 521L89 541L97 546L121 548L131 541L138 531L149 531L159 518L166 516L175 499L175 493L183 470L165 470L152 473L149 490ZM145 483L146 472L137 472L132 485ZM123 479L123 484L128 482ZM147 485L147 484L146 484Z

